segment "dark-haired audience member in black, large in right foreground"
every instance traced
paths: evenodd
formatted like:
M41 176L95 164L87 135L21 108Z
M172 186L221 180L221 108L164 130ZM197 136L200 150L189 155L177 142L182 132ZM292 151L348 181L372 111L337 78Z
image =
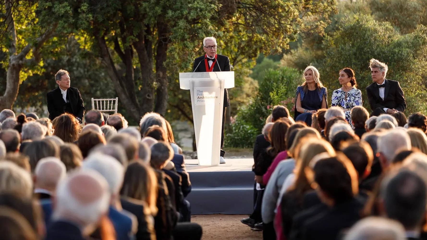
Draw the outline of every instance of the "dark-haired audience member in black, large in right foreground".
M356 170L345 155L338 153L336 157L323 158L315 163L310 182L315 183L319 199L328 208L305 220L300 237L295 238L294 231L290 239L337 239L342 230L360 220L363 204L355 198L358 193Z

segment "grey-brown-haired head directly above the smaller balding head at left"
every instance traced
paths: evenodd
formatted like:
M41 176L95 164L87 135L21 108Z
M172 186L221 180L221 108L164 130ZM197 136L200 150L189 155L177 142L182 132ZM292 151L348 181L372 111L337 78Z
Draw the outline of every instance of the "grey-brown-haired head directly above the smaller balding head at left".
M37 162L41 158L59 158L59 148L50 141L34 141L25 148L24 154L29 156L29 164L31 166L31 171L33 172Z

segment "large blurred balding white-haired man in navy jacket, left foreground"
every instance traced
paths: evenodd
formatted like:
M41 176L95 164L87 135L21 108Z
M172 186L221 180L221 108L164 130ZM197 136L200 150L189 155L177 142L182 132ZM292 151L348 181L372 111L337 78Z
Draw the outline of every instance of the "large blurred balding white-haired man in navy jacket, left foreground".
M108 212L108 183L94 170L71 173L56 187L56 203L46 240L84 240Z

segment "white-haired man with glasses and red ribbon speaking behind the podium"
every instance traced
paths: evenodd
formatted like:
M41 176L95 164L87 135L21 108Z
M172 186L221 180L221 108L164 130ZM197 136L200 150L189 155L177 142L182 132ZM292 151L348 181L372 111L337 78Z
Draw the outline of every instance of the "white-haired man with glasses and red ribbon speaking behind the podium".
M207 37L203 39L203 50L205 55L194 59L193 72L222 72L231 71L230 59L227 56L216 54L216 38ZM222 111L222 130L221 130L221 153L219 163L225 163L225 152L222 150L224 146L224 124L225 124L225 108L230 105L228 99L228 91L224 89L224 109Z

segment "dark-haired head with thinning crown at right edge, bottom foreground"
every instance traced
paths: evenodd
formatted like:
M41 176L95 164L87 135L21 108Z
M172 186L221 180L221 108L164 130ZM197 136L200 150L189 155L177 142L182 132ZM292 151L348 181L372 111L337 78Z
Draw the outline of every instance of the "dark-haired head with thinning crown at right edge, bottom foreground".
M388 182L384 193L387 217L407 229L421 228L427 202L426 184L416 173L401 170Z

